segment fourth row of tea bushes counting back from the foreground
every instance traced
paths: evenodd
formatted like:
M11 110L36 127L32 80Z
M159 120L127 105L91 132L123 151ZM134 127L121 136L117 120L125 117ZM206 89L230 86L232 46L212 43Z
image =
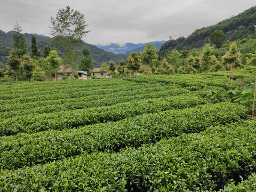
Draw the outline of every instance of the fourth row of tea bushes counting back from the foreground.
M129 87L129 86L128 86ZM109 103L118 103L117 100L121 102L130 101L132 99L137 98L159 98L163 95L171 96L174 94L173 87L149 87L148 89L134 87L134 90L130 90L131 88L123 87L123 90L115 90L113 89L109 93L92 93L90 95L81 95L79 97L70 97L68 95L67 98L64 99L57 99L57 100L41 100L41 101L29 101L25 103L16 103L14 100L10 100L9 103L0 106L0 111L3 112L3 117L12 116L20 111L20 113L29 113L29 111L38 110L37 113L49 113L51 111L59 111L59 110L70 110L70 109L81 109L81 108L88 108L88 107L95 107L95 106L104 106L109 105ZM111 90L111 89L109 89ZM177 89L177 94L182 93L189 93L191 91L185 88ZM147 96L148 95L148 96ZM159 95L159 96L158 96ZM129 99L130 98L130 99ZM99 101L99 102L98 102ZM95 104L96 103L96 104ZM110 104L111 105L111 104ZM112 104L113 105L113 104ZM29 109L28 112L25 112L25 109ZM33 111L35 113L35 111Z

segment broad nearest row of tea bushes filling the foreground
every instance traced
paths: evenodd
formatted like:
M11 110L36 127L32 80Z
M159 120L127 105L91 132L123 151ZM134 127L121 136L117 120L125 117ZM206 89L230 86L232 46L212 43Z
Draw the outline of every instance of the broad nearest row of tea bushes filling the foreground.
M182 134L119 153L96 152L14 171L1 170L0 191L223 189L231 179L237 180L239 175L245 178L256 170L255 127L255 120L209 127L205 132ZM254 188L253 181L255 177L249 178L246 183L253 186L247 188Z

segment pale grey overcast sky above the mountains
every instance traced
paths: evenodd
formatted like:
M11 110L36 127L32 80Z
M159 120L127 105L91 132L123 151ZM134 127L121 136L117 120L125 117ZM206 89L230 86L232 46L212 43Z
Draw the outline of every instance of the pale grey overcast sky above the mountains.
M187 37L256 5L255 0L1 0L0 29L50 36L51 17L70 6L84 14L90 44L148 43Z

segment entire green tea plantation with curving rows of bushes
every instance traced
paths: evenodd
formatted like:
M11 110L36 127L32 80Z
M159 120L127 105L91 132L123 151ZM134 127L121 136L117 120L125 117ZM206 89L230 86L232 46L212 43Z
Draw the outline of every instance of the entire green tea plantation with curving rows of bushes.
M209 73L207 88L255 80ZM0 191L256 191L252 109L204 74L0 83Z

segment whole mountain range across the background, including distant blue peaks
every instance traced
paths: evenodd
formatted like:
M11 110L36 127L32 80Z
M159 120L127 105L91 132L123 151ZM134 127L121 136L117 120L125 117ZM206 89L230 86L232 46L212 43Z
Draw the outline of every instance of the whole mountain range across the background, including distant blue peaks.
M164 57L165 54L173 49L183 50L183 49L194 49L194 48L202 48L206 43L209 42L209 36L215 30L222 30L225 34L223 42L226 41L235 41L237 39L253 39L256 38L255 29L256 26L256 6L251 7L248 10L245 10L242 13L239 13L236 16L232 16L226 20L220 21L216 25L210 27L204 27L201 29L195 30L188 37L179 37L177 39L171 39L169 41L156 41L151 42L158 47L159 55ZM7 62L7 56L10 54L11 50L11 42L12 42L12 33L13 31L9 31L5 33L0 30L0 63ZM33 34L23 34L26 38L28 53L31 52L31 36ZM44 46L50 44L53 40L51 37L36 35L37 46L43 54ZM111 43L110 45L102 46L102 45L91 45L85 42L82 43L82 46L88 46L91 51L91 57L93 59L93 66L100 67L102 62L108 63L110 60L113 60L116 64L119 63L121 59L127 59L127 55L130 54L131 51L141 52L147 43L126 43L124 45ZM59 49L59 47L54 47L58 51L63 52L63 50ZM81 49L81 48L78 48ZM120 54L122 53L122 54Z

